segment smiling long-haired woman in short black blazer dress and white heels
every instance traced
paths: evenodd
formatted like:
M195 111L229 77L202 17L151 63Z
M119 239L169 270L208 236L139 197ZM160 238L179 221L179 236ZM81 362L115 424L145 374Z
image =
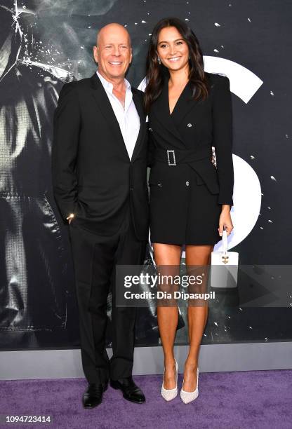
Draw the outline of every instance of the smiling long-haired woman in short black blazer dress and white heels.
M150 229L157 266L207 266L223 228L233 229L232 104L227 77L204 72L199 42L185 22L161 20L147 58L145 106L151 142ZM215 147L216 166L212 162ZM174 273L174 271L173 271ZM183 402L198 395L198 355L208 306L189 306L190 352ZM177 394L173 343L177 306L157 306L164 347L161 395ZM176 390L175 390L176 389Z

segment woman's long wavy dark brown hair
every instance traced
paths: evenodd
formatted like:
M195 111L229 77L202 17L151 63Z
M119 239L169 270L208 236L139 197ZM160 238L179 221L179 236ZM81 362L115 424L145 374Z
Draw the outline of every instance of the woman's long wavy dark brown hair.
M178 18L164 18L157 22L157 25L154 27L148 49L146 64L147 86L145 89L145 109L147 113L150 111L151 104L157 100L161 94L164 75L167 71L164 65L159 64L157 55L159 33L161 32L161 29L165 27L175 27L189 47L189 80L192 86L192 95L194 100L199 100L199 98L204 99L208 95L208 81L204 74L203 54L197 37L192 29L190 29L190 27L188 27L182 20Z

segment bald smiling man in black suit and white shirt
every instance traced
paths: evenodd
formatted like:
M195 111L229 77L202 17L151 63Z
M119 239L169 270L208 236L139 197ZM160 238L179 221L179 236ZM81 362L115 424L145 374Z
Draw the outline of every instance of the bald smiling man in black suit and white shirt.
M108 379L131 402L145 402L132 379L135 308L115 304L116 264L142 264L148 238L147 128L142 93L125 74L130 36L119 24L98 33L98 71L67 83L54 118L53 189L69 222L79 304L84 407L102 402ZM112 350L105 349L112 285Z

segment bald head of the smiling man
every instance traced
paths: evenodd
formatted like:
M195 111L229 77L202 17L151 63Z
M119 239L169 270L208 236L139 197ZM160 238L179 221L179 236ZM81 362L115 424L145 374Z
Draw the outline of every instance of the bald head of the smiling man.
M93 55L98 62L98 71L105 78L124 78L132 60L131 41L126 29L114 24L102 28Z

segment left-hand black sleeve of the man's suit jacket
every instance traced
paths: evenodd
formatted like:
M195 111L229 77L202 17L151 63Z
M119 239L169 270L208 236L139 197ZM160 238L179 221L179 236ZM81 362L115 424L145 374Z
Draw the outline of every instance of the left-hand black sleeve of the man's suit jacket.
M54 114L52 147L53 193L64 218L77 209L77 160L81 123L79 100L74 83L65 83Z

